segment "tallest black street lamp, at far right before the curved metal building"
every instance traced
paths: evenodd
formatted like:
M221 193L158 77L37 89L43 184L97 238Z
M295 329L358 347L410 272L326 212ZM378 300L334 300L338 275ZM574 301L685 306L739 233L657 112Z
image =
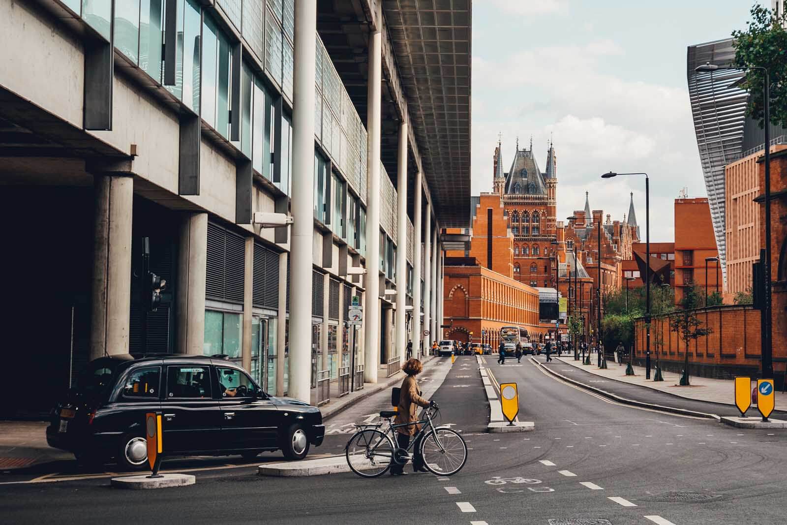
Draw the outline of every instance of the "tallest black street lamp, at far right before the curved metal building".
M763 68L763 66L759 65L730 68L711 64L710 62L697 66L694 68L694 71L698 73L710 72L712 75L715 71L740 71L741 69L759 69L765 72L765 83L763 86L763 120L765 120L765 264L763 264L763 279L765 280L765 294L763 298L763 315L760 316L760 331L765 336L762 350L762 375L763 377L772 378L774 376L774 361L770 333L770 72L768 68ZM716 287L719 287L718 282Z

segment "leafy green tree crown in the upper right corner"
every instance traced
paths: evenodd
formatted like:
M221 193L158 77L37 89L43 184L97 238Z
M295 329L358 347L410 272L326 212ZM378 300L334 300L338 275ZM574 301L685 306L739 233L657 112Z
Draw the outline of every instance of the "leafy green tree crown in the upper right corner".
M745 31L733 31L735 67L758 66L770 72L770 122L787 128L787 30L783 24L785 15L774 17L770 9L755 4L750 11L752 21ZM741 87L747 89L749 116L759 120L763 128L765 112L763 87L765 72L749 69Z

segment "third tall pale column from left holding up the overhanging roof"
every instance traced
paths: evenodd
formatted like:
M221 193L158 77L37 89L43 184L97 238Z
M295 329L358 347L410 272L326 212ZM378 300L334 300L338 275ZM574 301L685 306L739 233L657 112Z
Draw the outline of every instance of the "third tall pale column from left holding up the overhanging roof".
M396 250L396 351L404 356L407 348L405 307L407 305L407 137L408 124L399 126L397 162L397 250Z

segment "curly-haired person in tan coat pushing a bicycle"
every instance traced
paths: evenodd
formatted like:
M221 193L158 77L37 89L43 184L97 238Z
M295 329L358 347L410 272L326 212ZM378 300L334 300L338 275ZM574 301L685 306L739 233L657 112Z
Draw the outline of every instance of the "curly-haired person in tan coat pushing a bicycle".
M398 427L396 429L396 440L397 444L399 445L400 449L407 449L408 445L410 444L410 437L418 434L421 430L421 427L416 421L418 421L418 407L426 408L433 404L433 401L427 401L423 397L421 397L421 390L418 388L418 382L416 382L416 375L419 375L423 371L423 364L421 361L417 359L408 359L405 362L404 366L402 366L402 372L407 374L405 380L401 382L401 390L399 392L399 405L397 406L397 416L396 419L393 420L393 424L401 425L404 423L410 423L405 427ZM421 457L420 443L421 438L416 439L415 444L413 445L413 455L412 455L412 471L413 472L428 472L427 468L423 466L423 457ZM390 475L407 475L405 473L405 464L407 461L405 460L404 464L392 464Z

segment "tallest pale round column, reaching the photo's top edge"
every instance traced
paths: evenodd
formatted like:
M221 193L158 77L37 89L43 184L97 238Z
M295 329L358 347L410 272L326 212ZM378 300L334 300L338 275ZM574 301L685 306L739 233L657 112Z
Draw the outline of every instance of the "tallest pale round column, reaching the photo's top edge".
M312 353L312 235L314 230L314 68L317 0L295 2L293 79L293 215L290 257L290 397L309 403Z

